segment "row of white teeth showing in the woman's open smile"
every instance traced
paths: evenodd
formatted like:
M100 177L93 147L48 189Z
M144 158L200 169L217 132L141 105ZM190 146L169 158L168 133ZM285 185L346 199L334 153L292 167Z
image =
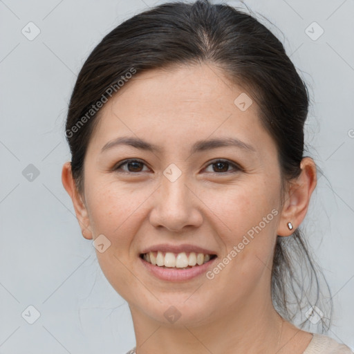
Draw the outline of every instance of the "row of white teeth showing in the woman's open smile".
M216 254L203 254L196 252L148 252L140 254L140 258L144 259L152 265L160 268L178 268L188 269L198 267L204 263L216 258Z

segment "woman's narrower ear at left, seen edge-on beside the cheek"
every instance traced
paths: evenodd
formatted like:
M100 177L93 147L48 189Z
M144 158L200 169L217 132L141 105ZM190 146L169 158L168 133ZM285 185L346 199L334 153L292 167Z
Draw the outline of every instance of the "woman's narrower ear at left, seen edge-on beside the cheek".
M82 236L84 236L84 238L88 240L93 239L90 219L88 218L86 205L82 201L81 194L77 191L73 175L71 174L71 162L66 162L63 166L62 183L64 185L64 188L66 189L66 192L68 192L69 196L71 196L71 200L73 201L76 218L77 221L79 221Z

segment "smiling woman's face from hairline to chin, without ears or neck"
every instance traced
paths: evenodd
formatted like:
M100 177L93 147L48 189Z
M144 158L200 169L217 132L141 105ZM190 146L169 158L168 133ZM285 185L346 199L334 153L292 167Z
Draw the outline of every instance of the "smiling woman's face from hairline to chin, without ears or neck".
M281 174L250 98L203 64L137 73L102 108L84 205L102 271L133 314L198 325L268 306ZM144 144L110 144L122 137ZM148 263L148 250L178 268ZM181 269L192 251L213 257Z

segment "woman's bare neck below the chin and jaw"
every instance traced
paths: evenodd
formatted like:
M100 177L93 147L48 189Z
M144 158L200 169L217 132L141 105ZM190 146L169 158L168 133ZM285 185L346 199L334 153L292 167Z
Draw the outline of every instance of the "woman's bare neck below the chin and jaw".
M178 324L178 321L162 324L130 306L136 353L277 353L284 342L283 319L270 299L259 301L258 298L256 303L249 300L249 306L229 308L227 313L216 313L212 321L198 325Z

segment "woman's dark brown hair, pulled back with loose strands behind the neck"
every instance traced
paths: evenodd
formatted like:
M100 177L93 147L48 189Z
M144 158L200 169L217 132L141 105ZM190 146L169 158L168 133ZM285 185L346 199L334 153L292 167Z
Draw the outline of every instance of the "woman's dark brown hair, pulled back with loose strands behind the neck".
M112 89L118 91L118 82L127 82L133 73L203 63L221 68L230 82L244 88L261 107L261 124L277 145L282 191L286 181L299 176L309 105L306 84L279 39L255 17L231 6L200 0L165 3L127 19L86 59L66 120L72 174L79 192L84 189L86 148L99 118L97 105L102 106L97 103L109 100ZM315 268L299 228L290 237L277 236L272 299L285 319L295 321L299 312L302 318L304 309L319 304ZM313 291L315 298L310 297ZM329 328L328 320L330 317L322 317L322 328Z

